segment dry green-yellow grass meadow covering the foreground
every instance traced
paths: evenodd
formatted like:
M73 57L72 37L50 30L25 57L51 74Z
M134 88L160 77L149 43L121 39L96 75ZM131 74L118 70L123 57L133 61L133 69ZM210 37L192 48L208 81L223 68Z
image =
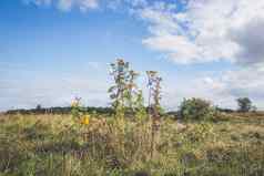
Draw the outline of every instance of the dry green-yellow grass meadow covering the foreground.
M216 122L163 118L151 156L151 123L99 115L1 115L0 176L263 176L264 115Z

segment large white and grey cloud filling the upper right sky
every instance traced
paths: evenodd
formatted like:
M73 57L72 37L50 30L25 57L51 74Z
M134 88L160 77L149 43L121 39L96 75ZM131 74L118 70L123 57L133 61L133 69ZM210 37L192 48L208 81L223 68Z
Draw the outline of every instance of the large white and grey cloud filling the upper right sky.
M257 39L264 30L263 0L190 0L185 10L172 6L154 3L139 10L150 22L151 35L143 40L148 46L176 63L264 61L262 50L255 49L264 45ZM252 32L256 40L250 40Z

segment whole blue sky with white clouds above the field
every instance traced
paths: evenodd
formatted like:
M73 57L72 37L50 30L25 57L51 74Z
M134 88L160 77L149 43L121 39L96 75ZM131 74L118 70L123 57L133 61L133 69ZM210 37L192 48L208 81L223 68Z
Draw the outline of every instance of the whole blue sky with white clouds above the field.
M0 111L110 105L109 64L163 77L162 105L184 97L264 110L264 0L1 0Z

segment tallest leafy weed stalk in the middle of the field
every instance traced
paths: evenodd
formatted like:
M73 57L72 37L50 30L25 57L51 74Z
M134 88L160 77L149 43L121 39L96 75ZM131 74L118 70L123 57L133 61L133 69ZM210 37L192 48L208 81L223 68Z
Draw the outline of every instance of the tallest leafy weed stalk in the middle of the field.
M136 117L143 117L143 96L135 83L139 73L130 69L129 62L122 59L111 63L110 75L113 76L114 85L109 89L110 97L112 100L112 107L115 111L114 128L116 130L116 139L122 155L124 154L125 113L136 113ZM138 110L141 110L138 112Z

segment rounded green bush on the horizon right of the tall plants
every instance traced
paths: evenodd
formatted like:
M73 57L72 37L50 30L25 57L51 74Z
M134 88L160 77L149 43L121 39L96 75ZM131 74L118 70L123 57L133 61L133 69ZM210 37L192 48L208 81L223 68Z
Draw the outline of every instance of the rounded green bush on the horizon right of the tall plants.
M213 115L211 103L202 99L184 99L180 106L180 117L183 120L210 120Z

